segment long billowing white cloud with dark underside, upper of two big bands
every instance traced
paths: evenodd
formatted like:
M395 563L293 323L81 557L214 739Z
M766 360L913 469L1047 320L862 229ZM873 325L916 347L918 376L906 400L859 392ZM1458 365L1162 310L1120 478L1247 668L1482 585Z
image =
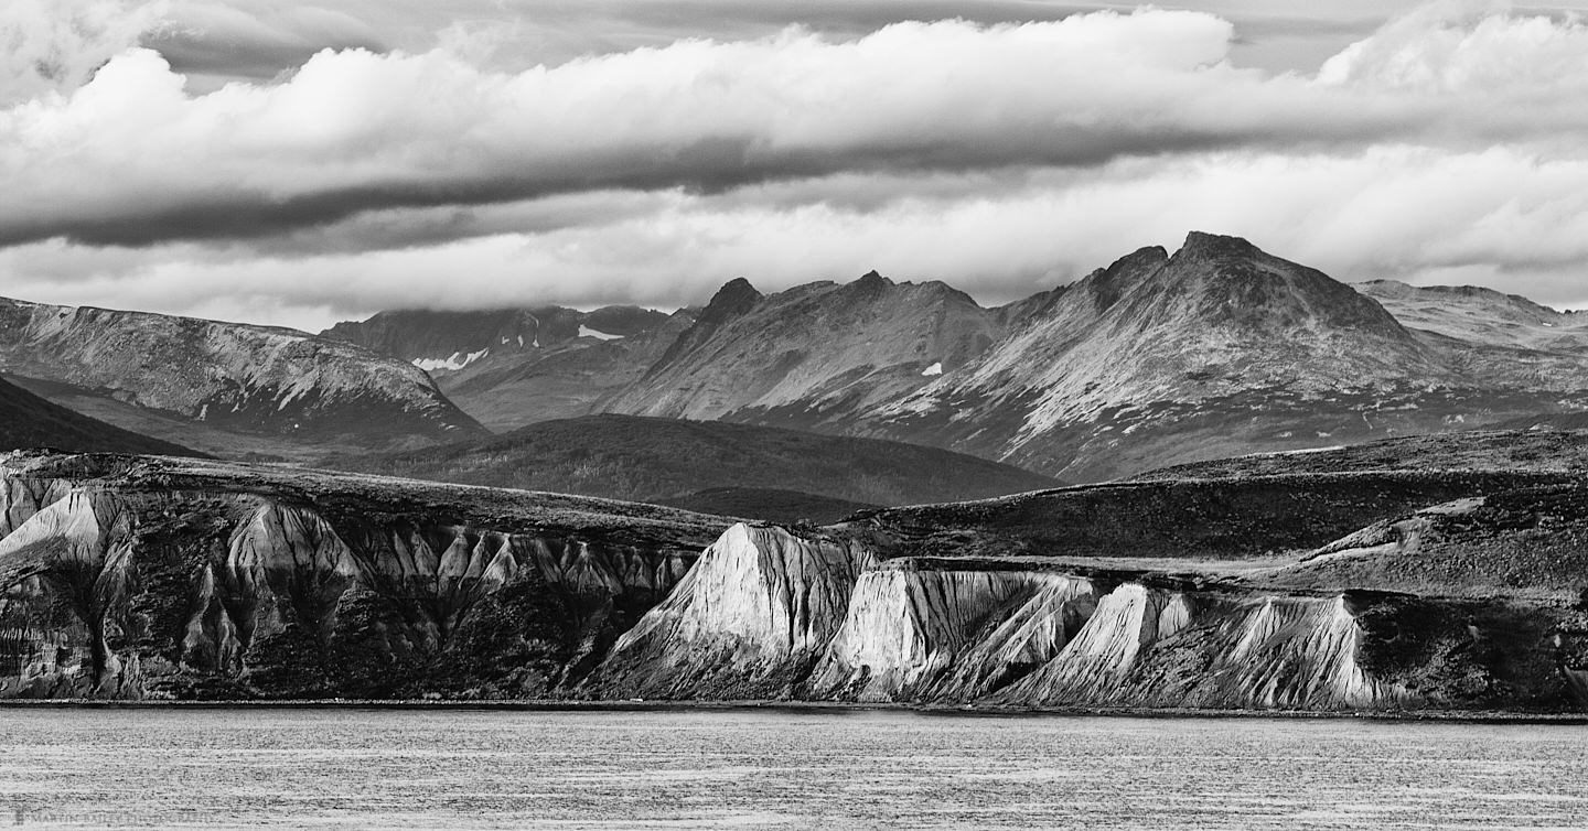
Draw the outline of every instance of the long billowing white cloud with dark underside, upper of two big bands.
M283 84L189 95L152 51L0 113L0 244L273 236L360 211L831 173L1094 165L1355 141L1404 106L1231 67L1197 13L897 24L480 70L324 51Z

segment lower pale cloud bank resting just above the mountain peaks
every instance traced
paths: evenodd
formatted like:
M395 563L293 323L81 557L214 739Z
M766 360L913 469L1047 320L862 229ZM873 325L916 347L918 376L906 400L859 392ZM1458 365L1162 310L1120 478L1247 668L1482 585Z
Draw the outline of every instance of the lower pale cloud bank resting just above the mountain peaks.
M40 300L322 328L381 308L675 308L705 301L737 276L777 290L872 268L894 279L943 279L991 304L1208 230L1248 236L1337 279L1485 282L1559 306L1588 304L1583 160L1385 146L1355 155L1118 160L1018 182L943 179L929 197L899 182L894 198L853 206L808 203L797 190L810 182L581 197L578 222L367 252L35 243L0 252L0 273L35 274L11 290ZM491 208L478 220L530 209ZM49 263L57 270L46 271Z

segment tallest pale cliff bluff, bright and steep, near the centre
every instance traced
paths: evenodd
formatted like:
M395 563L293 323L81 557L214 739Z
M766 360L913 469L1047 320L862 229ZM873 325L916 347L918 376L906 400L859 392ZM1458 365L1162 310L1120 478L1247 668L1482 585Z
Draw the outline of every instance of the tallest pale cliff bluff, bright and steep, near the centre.
M608 664L629 674L619 688L646 695L711 698L711 684L754 685L831 641L870 565L851 542L734 525L618 639Z

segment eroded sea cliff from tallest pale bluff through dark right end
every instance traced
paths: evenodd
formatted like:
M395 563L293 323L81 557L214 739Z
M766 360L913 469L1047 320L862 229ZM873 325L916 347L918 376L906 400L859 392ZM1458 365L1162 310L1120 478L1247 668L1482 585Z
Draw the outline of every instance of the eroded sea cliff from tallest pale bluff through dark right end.
M1578 707L1582 661L1564 658L1551 615L1031 561L881 561L853 541L740 525L581 691L1012 709Z

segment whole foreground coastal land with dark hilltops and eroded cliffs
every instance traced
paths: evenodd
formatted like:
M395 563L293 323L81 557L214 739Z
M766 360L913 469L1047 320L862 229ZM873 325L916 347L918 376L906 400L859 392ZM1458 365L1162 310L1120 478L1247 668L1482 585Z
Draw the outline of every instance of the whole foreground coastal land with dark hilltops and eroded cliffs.
M0 484L5 696L1588 706L1569 473L1093 485L819 530L138 457L13 454Z

